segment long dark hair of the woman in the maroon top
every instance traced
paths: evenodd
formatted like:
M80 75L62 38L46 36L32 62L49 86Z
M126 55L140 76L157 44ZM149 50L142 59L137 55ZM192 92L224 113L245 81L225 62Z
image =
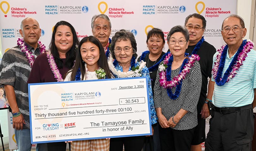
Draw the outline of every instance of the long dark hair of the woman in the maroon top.
M74 60L76 59L76 48L79 45L79 40L76 36L76 30L75 28L66 21L59 21L58 23L56 23L56 25L53 28L53 32L52 32L52 40L51 43L49 45L49 48L51 49L51 53L56 61L56 64L58 66L59 69L63 68L63 61L59 58L59 53L58 50L56 48L55 45L55 34L56 34L56 30L57 27L60 25L66 25L68 27L70 27L72 34L73 34L73 45L71 47L71 49L66 53L66 62L65 62L65 66L67 66L69 69L72 68L72 66L74 65Z

